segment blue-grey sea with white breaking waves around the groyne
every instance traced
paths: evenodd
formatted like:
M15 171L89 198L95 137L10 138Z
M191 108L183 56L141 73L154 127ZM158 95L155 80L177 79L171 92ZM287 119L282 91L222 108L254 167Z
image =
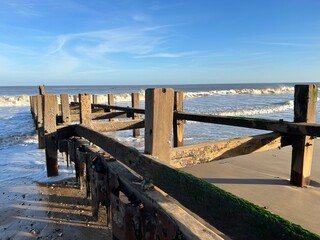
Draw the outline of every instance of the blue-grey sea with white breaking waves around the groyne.
M48 86L47 93L99 94L99 103L107 103L107 94L117 94L115 102L130 106L130 93L141 93L149 87L172 87L185 94L184 111L220 116L245 116L285 121L293 120L294 84L214 84L177 86ZM0 183L18 178L37 182L58 181L74 176L59 159L59 177L47 178L44 150L37 147L37 133L30 113L29 96L37 87L0 87ZM318 102L318 109L319 108ZM320 120L319 111L317 122ZM143 132L143 130L142 130ZM266 133L266 131L188 121L185 144L214 141ZM143 151L143 137L133 138L132 131L108 133L109 136Z

